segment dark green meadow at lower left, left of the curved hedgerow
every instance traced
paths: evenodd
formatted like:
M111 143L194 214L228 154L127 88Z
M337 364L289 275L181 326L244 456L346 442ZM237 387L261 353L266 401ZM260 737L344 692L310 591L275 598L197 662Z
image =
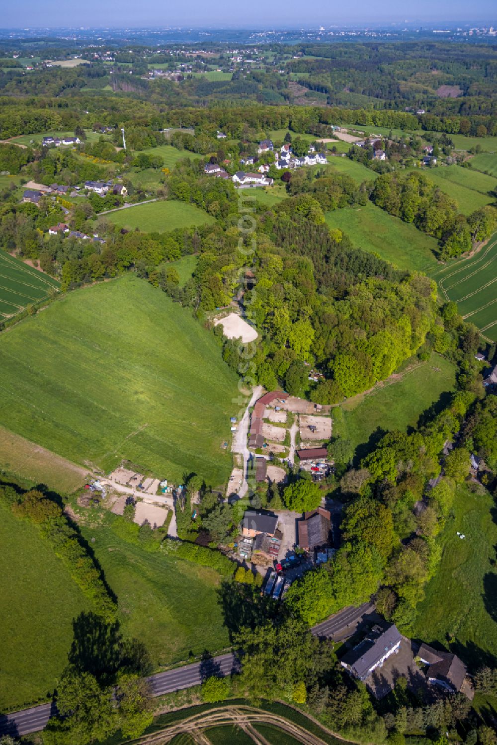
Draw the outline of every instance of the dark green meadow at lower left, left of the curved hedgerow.
M89 607L37 527L0 507L0 711L44 700L67 662L72 618Z

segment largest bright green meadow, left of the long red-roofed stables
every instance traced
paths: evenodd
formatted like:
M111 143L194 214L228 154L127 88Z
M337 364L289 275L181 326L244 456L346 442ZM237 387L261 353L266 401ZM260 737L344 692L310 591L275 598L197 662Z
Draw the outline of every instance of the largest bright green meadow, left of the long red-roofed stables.
M227 480L235 373L214 338L127 275L71 292L0 337L0 424L106 472L122 458L181 483Z

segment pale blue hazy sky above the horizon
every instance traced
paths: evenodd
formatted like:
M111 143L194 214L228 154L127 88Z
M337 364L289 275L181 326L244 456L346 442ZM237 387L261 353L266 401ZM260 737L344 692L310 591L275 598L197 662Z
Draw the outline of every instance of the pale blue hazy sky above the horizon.
M311 28L390 22L494 22L496 0L0 0L0 28ZM406 13L408 13L406 15Z

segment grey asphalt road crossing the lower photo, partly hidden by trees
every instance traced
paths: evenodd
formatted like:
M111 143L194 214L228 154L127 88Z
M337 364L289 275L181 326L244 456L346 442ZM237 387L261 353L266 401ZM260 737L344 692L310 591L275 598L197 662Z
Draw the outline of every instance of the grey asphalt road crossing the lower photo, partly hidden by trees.
M312 628L314 636L320 638L344 638L347 630L351 630L360 621L363 615L374 610L373 603L363 603L358 608L344 608L336 615L317 624ZM200 685L206 678L212 675L225 676L236 673L239 670L238 661L232 652L229 652L203 662L194 662L192 665L185 665L183 668L165 671L165 673L156 673L151 675L152 691L154 696L170 694L173 691L180 691L183 688L191 688L193 685ZM43 729L51 715L54 714L55 707L53 703L44 703L41 706L25 708L22 711L15 711L13 714L0 715L0 736L1 735L28 735L30 732L38 732Z

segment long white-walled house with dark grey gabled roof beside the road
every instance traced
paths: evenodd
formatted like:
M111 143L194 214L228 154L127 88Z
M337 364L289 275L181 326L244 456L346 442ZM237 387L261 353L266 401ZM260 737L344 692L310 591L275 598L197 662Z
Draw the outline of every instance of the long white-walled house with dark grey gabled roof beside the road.
M395 624L386 630L373 629L356 647L346 652L340 663L350 675L364 681L381 668L390 655L399 651L401 641L402 634Z

